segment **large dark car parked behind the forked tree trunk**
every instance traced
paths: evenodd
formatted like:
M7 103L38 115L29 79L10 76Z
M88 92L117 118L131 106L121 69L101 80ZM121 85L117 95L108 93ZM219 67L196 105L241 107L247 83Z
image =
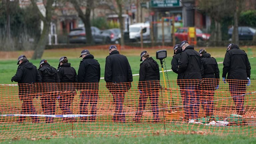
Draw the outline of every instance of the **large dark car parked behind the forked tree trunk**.
M110 35L98 29L97 27L91 27L92 37L95 43L110 43ZM69 43L86 43L86 32L84 27L75 28L70 30Z

